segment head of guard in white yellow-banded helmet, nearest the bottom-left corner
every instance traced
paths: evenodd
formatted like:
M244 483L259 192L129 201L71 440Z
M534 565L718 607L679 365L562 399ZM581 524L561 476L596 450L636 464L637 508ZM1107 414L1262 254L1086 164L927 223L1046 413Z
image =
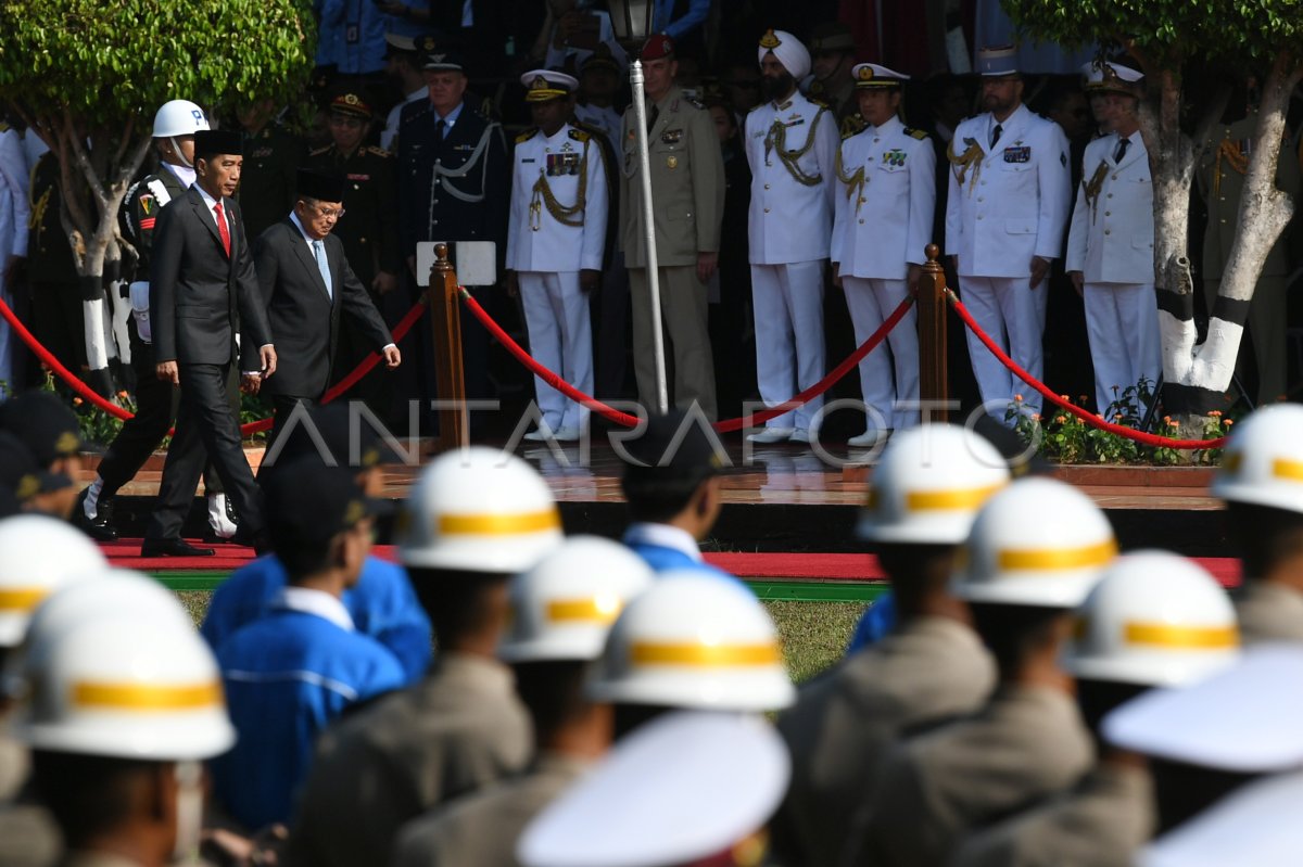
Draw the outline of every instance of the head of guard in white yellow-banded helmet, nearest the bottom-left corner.
M70 863L162 864L198 849L202 763L235 729L212 654L172 605L87 611L31 637L14 732Z

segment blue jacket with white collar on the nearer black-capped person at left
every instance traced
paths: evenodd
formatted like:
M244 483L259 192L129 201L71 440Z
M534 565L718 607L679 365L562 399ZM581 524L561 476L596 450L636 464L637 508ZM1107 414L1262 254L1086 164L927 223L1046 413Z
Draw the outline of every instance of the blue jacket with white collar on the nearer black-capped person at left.
M229 637L218 664L238 739L212 762L214 790L250 831L289 821L327 725L404 681L394 654L356 631L340 600L302 587Z

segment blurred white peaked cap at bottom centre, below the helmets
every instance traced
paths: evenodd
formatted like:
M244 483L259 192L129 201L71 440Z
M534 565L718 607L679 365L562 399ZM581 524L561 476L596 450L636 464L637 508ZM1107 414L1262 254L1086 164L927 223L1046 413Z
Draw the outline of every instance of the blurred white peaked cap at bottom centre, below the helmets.
M765 821L791 759L764 720L681 711L648 722L543 811L524 867L741 867L765 859Z

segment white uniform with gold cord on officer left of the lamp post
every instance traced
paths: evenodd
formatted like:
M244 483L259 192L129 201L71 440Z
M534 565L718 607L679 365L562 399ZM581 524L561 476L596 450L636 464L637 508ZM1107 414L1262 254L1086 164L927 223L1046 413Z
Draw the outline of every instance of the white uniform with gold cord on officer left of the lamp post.
M579 272L602 269L609 195L602 147L584 130L566 124L551 137L538 130L525 141L516 139L512 160L516 168L507 269L517 272L520 280L530 353L567 383L592 394L593 332ZM581 219L582 225L566 225L552 216L542 195L536 195L534 185L545 178L558 204L572 207L579 199L581 169L588 176L588 190L584 211L575 219ZM534 388L543 423L552 432L582 428L588 409L541 379L534 379Z

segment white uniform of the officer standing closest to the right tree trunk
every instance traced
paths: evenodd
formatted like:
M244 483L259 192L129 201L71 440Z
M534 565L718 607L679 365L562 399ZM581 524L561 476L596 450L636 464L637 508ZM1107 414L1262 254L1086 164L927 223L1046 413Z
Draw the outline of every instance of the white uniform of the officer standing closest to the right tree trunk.
M1153 294L1153 178L1139 130L1127 141L1121 163L1114 160L1117 133L1085 146L1067 236L1066 268L1085 279L1085 332L1100 413L1141 378L1156 384L1162 372ZM1102 184L1087 200L1097 172Z

